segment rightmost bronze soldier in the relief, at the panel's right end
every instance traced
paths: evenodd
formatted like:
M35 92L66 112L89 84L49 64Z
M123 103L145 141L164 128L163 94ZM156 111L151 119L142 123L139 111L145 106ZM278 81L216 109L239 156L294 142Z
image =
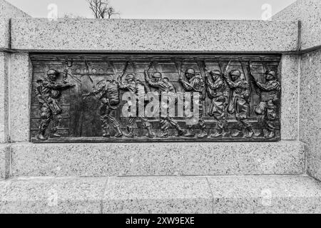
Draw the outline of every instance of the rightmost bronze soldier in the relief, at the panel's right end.
M250 68L251 67L250 64ZM279 81L277 81L275 71L265 72L265 83L260 83L255 78L254 81L261 90L260 104L255 108L255 113L259 115L261 127L268 130L268 134L265 135L265 138L273 138L275 137L275 118L277 116L277 105L279 102L281 86ZM264 135L264 132L262 131L260 135L261 134Z

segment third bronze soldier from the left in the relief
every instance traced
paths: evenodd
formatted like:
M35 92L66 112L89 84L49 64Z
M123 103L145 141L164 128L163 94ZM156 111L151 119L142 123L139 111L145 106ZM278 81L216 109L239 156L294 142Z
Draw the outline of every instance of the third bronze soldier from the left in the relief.
M139 96L139 86L143 86L141 81L136 80L136 77L133 74L128 74L125 78L126 84L123 83L121 80L121 76L118 77L118 84L119 88L121 90L128 90L129 92L133 93L133 95L136 96L136 102L138 105L144 105L144 103L141 103L141 99L138 98ZM144 128L148 131L148 138L154 138L154 133L151 130L151 123L148 122L148 118L144 113L138 112L137 116L130 116L127 123L127 130L128 135L126 137L128 138L134 138L133 130L134 130L134 124L136 123L136 120L140 119L143 123Z

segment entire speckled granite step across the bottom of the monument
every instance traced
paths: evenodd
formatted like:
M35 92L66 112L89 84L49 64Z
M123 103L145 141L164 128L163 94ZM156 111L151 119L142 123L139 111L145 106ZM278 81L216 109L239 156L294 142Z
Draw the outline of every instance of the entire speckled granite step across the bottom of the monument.
M1 213L320 213L305 175L29 177L0 182Z

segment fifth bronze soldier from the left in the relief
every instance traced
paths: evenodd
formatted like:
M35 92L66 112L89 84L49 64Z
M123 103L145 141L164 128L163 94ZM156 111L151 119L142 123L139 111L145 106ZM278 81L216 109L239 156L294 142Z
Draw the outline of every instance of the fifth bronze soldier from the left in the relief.
M198 103L195 103L194 105L198 105L199 113L198 113L198 123L200 125L201 133L198 135L198 138L208 138L208 132L206 130L205 121L203 120L203 101L205 100L204 93L205 93L205 83L200 75L195 74L195 70L193 68L189 68L187 71L185 71L185 77L188 79L188 82L186 82L183 78L183 76L180 76L180 83L182 83L183 87L186 91L190 92L190 95L192 96L194 93L200 93ZM185 95L186 98L186 95ZM189 102L184 103L184 109L190 110L191 104ZM187 115L185 118L188 118L188 120L195 120L194 115ZM187 124L188 131L185 134L185 137L193 138L195 136L193 125Z

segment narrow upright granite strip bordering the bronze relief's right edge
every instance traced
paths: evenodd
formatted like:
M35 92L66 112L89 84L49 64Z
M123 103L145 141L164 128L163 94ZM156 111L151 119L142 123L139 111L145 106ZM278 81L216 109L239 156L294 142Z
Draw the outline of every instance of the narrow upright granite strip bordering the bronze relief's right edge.
M299 56L283 55L281 62L281 138L297 140L299 112Z

